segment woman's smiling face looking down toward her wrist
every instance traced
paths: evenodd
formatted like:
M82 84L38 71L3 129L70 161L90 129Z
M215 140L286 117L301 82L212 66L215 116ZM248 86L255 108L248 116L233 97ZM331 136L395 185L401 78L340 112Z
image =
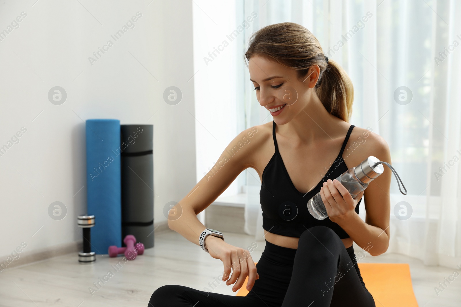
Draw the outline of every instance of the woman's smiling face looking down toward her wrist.
M248 61L250 81L261 106L277 117L278 124L290 122L309 103L319 76L319 66L313 65L304 80L296 70L254 55Z

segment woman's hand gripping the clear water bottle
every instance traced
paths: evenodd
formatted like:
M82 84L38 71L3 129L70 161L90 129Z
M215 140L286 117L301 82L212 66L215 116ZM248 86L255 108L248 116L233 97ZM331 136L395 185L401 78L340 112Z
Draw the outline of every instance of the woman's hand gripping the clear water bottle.
M355 206L363 196L361 191L357 197L352 198L349 191L338 180L327 180L320 188L320 197L325 204L328 218L335 223L347 220L349 216L355 214Z

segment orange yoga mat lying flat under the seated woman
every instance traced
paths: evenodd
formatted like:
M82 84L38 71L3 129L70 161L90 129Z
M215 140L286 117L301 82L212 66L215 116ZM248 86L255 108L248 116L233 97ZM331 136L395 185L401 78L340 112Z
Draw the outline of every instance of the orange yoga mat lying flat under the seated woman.
M255 262L256 264L257 262ZM366 289L376 307L418 307L408 263L358 263ZM246 296L248 276L237 296Z

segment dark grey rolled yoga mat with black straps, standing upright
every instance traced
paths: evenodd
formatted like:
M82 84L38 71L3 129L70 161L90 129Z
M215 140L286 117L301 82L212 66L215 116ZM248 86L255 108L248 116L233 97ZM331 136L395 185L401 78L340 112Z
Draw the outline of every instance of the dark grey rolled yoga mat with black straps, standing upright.
M122 240L154 247L153 125L120 125ZM125 244L123 244L125 246Z

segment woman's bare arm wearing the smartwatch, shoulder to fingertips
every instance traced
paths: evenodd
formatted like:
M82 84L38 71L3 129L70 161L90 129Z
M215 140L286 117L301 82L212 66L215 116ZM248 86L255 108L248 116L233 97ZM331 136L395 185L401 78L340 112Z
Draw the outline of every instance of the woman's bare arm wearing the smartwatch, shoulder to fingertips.
M248 128L227 145L213 169L176 204L173 214L169 214L168 226L172 230L180 233L190 242L200 245L199 237L205 226L197 219L197 214L213 203L238 174L252 166L251 161L254 156L257 156L257 149L264 141L259 130L258 127ZM222 280L226 281L227 285L235 283L232 287L234 292L242 287L247 276L247 290L251 290L259 274L247 249L233 246L213 236L205 238L205 246L210 256L223 261Z

